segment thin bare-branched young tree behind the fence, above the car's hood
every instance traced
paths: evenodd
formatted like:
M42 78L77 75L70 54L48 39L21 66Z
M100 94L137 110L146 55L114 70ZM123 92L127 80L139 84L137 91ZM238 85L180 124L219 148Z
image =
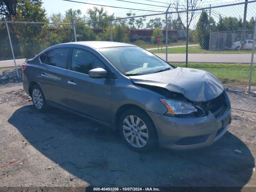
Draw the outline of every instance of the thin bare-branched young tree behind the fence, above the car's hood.
M184 24L182 22L182 19L180 17L180 13L178 12L178 20L180 21L180 23L182 24L182 27L184 28L184 30L186 30L186 67L188 67L188 40L189 40L189 36L192 35L192 33L189 34L190 30L189 30L189 26L192 22L192 18L194 16L195 13L195 9L197 8L197 3L198 0L184 0L184 6L181 6L182 8L178 7L178 4L180 3L178 0L176 1L176 11L183 10L183 7L186 8L186 23ZM191 11L188 11L191 10Z

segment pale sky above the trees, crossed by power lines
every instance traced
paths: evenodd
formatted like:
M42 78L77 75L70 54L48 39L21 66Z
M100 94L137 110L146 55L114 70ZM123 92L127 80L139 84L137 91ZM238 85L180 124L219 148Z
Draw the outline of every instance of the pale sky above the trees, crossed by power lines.
M75 0L75 1L80 1L80 2L87 2L87 3L92 3L92 4L101 4L101 5L107 5L107 6L118 6L118 7L125 7L125 8L135 8L135 9L142 9L142 10L158 10L158 11L165 11L166 8L164 7L157 7L157 6L168 6L168 3L174 4L176 0L154 0L158 2L163 2L163 3L158 3L158 2L151 2L147 0L126 0L130 2L139 2L139 3L144 3L144 4L151 4L151 5L141 5L141 4L134 4L130 2L123 2L120 0ZM251 1L251 0L248 0ZM86 10L88 8L93 8L94 5L90 4L80 4L76 2L67 2L63 0L42 0L43 2L43 7L46 9L46 13L48 16L50 16L52 13L65 13L65 10L68 10L70 8L72 9L80 9L82 11L82 14L86 14ZM234 4L238 2L244 2L244 0L198 0L198 6L199 7L208 7L210 4L211 6L218 6L222 4ZM164 4L166 3L166 4ZM178 0L178 4L184 4L184 0ZM172 5L174 6L174 5ZM100 6L98 6L100 7ZM104 7L105 10L107 10L108 14L113 14L114 16L118 17L125 17L126 13L129 12L129 10L126 9L120 9L120 8L111 8L111 7ZM247 20L249 20L252 16L255 17L255 10L256 10L256 3L251 3L248 5L248 13L247 13ZM174 11L174 9L172 9ZM132 10L133 13L136 13L136 15L143 15L143 14L154 14L156 12L149 12L149 11L138 11L138 10ZM195 18L193 20L194 24L196 25L196 22L200 16L200 13L202 11L198 11L195 15ZM243 17L244 13L244 5L239 5L239 6L230 6L230 7L223 7L223 8L215 8L212 9L211 11L211 16L214 18L216 22L219 20L219 15L222 17L225 16L232 16L232 17ZM182 17L185 17L185 13L181 15ZM157 17L157 16L154 16ZM148 19L154 18L154 17L148 17ZM161 16L162 19L164 19L164 15Z

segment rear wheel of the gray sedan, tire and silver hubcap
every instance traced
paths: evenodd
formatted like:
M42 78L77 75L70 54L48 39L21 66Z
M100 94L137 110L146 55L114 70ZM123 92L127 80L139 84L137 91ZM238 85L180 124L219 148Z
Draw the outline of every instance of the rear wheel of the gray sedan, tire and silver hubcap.
M39 85L34 85L31 92L32 102L37 110L40 112L47 111L47 103L44 97L44 93Z

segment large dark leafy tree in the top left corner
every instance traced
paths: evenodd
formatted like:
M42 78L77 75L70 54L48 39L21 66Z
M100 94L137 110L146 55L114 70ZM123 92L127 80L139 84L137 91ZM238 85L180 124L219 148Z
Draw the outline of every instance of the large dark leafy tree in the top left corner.
M0 14L12 21L48 21L41 0L0 0ZM40 52L42 44L40 44L38 36L42 33L43 26L43 24L9 23L8 27L16 56L22 54L28 58ZM0 34L3 35L0 36L0 47L5 48L4 45L10 45L6 38L6 27L2 27L3 33Z

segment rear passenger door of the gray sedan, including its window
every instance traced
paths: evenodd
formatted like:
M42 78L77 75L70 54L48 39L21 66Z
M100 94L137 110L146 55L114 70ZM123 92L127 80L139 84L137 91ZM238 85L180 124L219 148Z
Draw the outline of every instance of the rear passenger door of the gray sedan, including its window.
M65 75L68 68L69 47L54 48L40 56L39 82L46 100L56 106L66 106Z

